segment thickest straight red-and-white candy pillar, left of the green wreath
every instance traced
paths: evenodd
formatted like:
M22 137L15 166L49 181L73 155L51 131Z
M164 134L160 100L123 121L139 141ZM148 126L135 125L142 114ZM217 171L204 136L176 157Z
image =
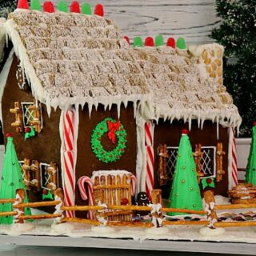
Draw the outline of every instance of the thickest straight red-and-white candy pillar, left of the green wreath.
M75 170L74 170L74 111L66 110L63 115L64 127L64 204L74 206ZM74 211L66 211L66 216L74 218Z

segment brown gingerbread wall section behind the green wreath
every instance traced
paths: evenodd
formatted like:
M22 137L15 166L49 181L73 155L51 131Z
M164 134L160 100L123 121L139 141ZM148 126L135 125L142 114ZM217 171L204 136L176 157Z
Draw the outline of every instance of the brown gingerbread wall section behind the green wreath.
M86 107L87 109L87 107ZM136 123L134 119L134 108L132 104L128 104L125 109L121 108L120 122L124 126L127 133L126 150L122 157L117 162L101 162L96 158L91 150L90 137L92 131L99 122L105 118L113 118L118 120L118 112L116 106L112 106L111 110L104 111L102 105L95 108L89 118L88 110L79 112L79 131L78 131L78 162L76 166L76 179L82 176L91 176L94 170L128 170L133 174L136 173L136 153L137 153L137 140L136 140ZM113 144L107 137L107 133L102 136L102 146L106 150L113 150L116 144ZM87 203L87 202L86 202ZM76 204L84 205L78 190L76 190ZM77 213L76 215L82 217L84 213Z

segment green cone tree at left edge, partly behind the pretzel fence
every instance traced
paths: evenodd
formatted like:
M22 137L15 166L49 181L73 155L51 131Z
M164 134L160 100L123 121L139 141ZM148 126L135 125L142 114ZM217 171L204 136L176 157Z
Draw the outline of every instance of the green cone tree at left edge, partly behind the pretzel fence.
M0 198L10 199L15 198L16 190L24 189L25 185L22 178L22 170L19 165L17 154L14 147L13 138L10 136L7 138L6 154L2 163L2 182L0 189ZM27 197L24 202L28 202ZM0 212L12 211L13 205L11 203L0 204ZM24 214L30 215L30 209L25 208ZM0 217L0 224L12 224L14 216Z

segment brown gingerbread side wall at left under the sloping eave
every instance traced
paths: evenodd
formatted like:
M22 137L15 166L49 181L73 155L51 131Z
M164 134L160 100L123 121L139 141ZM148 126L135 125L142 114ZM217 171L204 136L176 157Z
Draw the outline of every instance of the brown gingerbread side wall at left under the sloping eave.
M14 58L10 68L10 74L7 78L6 87L2 97L2 119L4 133L12 133L14 136L15 149L18 160L29 158L39 162L56 162L60 166L60 147L61 140L59 137L59 118L60 110L54 110L50 118L46 113L46 106L42 104L43 129L41 134L36 134L34 138L24 140L24 133L16 133L11 123L15 121L15 115L10 113L14 108L14 102L33 102L34 98L31 90L20 90L16 79L18 59ZM6 138L5 138L6 144ZM60 173L60 171L59 171ZM61 181L59 182L61 184ZM30 201L42 201L42 193L29 192Z

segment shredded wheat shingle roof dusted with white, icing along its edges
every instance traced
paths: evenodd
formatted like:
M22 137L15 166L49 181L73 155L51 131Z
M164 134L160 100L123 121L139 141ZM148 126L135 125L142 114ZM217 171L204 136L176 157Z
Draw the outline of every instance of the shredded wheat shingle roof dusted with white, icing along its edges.
M239 126L224 86L171 47L131 49L110 20L82 14L10 14L6 30L34 96L47 106L147 102L147 118L202 118Z

